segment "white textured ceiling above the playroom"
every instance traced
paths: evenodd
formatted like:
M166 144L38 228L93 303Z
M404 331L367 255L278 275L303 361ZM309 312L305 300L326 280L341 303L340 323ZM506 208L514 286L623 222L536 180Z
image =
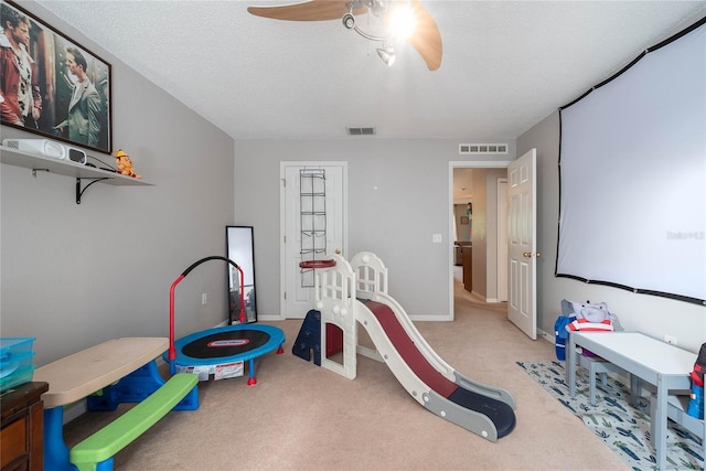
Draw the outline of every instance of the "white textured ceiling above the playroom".
M288 0L40 3L234 139L512 139L706 15L704 1L422 1L443 42L430 72L404 44L385 66L340 21L246 11Z

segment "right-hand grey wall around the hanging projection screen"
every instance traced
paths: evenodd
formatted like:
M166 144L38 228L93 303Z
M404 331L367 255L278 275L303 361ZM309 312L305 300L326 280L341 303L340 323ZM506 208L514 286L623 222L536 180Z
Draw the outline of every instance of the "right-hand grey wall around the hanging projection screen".
M554 113L517 138L517 154L537 149L537 306L538 328L554 332L561 299L605 301L625 330L663 340L677 339L684 349L697 352L706 342L706 308L648 295L554 276L559 215L559 114ZM606 208L607 212L610 207ZM645 264L650 263L645 254Z

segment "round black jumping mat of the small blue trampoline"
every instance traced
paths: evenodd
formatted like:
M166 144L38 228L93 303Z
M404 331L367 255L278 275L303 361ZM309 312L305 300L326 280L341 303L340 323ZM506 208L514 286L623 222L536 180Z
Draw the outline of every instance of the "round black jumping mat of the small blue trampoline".
M223 331L185 344L181 352L192 358L236 356L265 345L269 334L259 330Z

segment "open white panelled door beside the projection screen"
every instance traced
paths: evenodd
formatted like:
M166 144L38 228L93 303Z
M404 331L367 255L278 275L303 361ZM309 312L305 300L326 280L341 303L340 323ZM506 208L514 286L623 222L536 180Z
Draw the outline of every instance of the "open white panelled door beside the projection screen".
M510 259L510 299L507 319L537 339L537 233L536 233L536 149L507 167L510 191L510 227L507 256Z

